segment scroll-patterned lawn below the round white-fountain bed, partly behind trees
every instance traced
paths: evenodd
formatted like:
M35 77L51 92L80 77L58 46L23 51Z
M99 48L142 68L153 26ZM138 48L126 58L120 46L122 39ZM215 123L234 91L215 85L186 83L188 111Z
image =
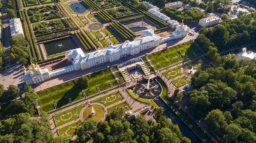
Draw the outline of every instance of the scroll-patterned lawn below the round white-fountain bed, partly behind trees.
M76 123L70 124L58 130L61 136L72 136L76 130L76 128L81 127L82 121L78 121Z

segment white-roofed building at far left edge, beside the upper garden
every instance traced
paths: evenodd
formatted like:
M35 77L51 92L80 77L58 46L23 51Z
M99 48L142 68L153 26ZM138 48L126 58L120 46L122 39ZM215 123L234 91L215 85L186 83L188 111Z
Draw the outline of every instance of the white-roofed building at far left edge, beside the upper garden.
M25 38L22 24L20 22L20 18L11 19L9 20L9 22L10 22L11 37L20 36L22 38Z

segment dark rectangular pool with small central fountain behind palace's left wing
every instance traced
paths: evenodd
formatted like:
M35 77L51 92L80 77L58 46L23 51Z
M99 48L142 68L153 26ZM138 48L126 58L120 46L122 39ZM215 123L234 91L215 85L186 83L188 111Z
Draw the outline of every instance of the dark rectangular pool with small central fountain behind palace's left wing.
M44 46L47 56L77 48L76 43L72 38L65 38L44 43Z

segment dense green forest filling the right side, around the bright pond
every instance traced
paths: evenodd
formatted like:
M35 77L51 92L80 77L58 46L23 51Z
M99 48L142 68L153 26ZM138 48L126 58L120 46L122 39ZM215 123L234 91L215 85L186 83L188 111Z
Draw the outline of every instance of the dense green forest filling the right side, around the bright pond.
M195 40L217 68L195 72L187 110L205 119L208 130L223 143L256 141L256 59L237 61L234 54L218 53L255 42L254 19L252 13L201 28Z

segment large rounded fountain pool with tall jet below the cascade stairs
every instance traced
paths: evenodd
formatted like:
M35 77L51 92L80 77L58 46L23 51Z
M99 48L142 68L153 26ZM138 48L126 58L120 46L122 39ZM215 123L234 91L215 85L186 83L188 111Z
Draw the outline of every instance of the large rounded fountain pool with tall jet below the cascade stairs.
M131 87L130 90L140 98L155 99L161 94L161 86L155 80L148 80L138 83L136 87Z

